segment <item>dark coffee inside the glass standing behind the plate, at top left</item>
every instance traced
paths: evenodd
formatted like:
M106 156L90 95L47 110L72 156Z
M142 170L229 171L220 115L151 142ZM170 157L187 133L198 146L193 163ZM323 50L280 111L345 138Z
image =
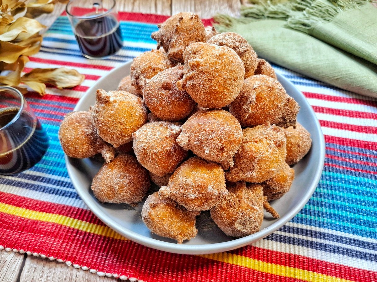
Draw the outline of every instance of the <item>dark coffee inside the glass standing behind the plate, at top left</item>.
M113 55L123 45L120 25L110 16L81 21L75 36L81 53L93 58Z

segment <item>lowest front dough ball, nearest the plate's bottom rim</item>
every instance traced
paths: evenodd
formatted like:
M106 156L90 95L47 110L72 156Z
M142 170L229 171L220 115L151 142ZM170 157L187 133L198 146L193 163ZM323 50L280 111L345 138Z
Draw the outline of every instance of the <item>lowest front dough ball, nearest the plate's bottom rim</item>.
M198 211L188 211L169 198L162 199L158 192L148 196L141 210L141 218L152 233L177 240L190 240L198 233L195 227Z

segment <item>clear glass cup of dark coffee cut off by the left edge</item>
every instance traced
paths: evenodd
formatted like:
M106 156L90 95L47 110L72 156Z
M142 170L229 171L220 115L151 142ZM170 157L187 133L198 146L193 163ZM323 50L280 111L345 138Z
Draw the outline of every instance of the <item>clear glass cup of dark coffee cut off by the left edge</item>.
M0 86L0 174L27 170L48 149L48 136L20 91Z

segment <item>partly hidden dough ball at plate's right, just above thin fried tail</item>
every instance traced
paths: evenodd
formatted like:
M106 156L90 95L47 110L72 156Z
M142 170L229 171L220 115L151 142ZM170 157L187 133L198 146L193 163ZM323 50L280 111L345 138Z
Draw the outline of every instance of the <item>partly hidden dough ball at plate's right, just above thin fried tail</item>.
M280 199L290 190L293 179L293 168L284 162L277 168L273 177L261 183L263 186L263 194L267 197L267 201Z

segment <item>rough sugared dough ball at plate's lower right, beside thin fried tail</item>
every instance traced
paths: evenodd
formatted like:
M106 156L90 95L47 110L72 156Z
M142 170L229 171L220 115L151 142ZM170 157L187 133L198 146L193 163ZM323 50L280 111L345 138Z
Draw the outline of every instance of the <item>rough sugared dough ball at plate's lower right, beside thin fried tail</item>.
M211 217L228 236L244 237L259 231L263 221L263 188L256 183L237 182L229 194L211 208Z

